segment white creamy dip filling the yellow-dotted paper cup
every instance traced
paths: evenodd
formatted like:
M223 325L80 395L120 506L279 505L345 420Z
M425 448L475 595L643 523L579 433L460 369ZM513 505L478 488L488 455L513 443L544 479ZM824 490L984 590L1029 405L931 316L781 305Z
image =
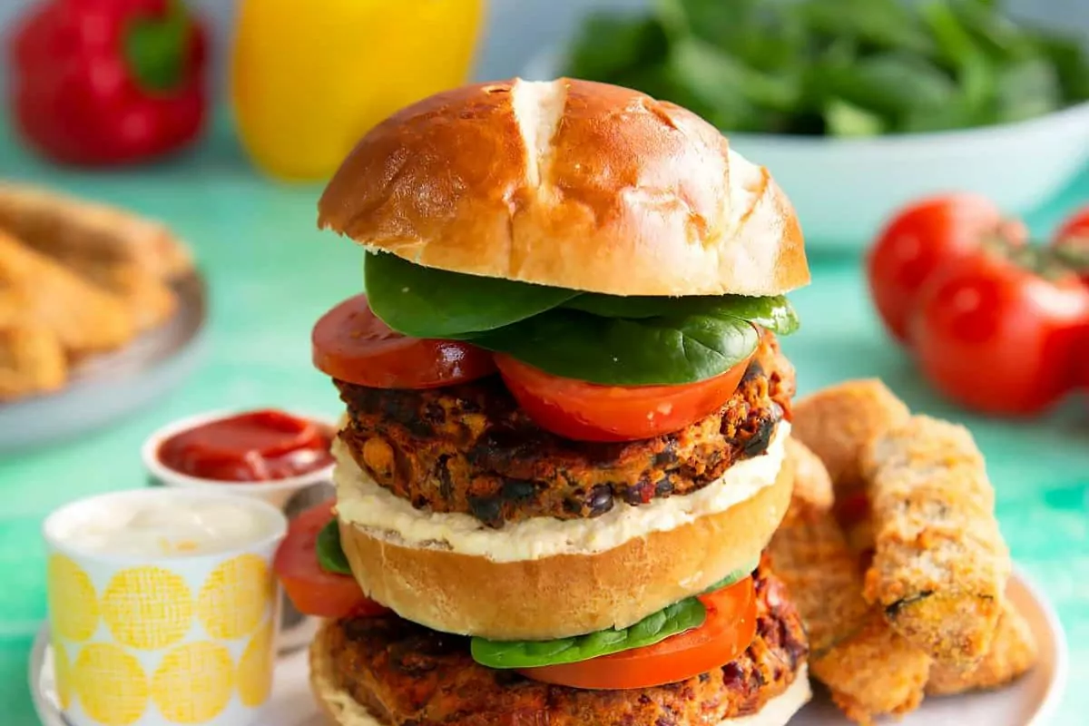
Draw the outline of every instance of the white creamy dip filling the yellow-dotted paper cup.
M162 494L87 508L58 522L54 536L99 554L186 557L235 550L272 534L271 518L245 500Z

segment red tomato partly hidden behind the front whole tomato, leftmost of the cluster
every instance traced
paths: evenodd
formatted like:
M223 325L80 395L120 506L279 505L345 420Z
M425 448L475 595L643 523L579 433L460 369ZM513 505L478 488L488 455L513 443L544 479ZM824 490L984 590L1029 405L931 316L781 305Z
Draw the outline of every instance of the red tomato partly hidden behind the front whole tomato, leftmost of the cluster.
M930 197L897 212L867 259L870 295L889 331L908 343L908 319L922 284L935 270L993 236L1019 244L1028 233L1024 224L1006 220L992 201L975 194Z

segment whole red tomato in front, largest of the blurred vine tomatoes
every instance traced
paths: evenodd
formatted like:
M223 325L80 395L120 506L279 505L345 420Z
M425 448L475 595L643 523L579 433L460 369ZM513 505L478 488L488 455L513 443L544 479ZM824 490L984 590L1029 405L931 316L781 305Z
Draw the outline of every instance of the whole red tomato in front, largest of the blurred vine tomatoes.
M1087 334L1089 290L1076 275L1045 276L991 250L935 272L911 319L919 366L931 383L964 406L996 415L1040 413L1073 389Z

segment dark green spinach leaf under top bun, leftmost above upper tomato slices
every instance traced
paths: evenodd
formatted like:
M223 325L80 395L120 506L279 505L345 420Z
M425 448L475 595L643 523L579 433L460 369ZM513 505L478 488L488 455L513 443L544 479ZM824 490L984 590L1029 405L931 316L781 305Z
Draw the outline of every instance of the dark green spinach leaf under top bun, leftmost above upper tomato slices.
M368 254L364 279L375 315L393 330L415 337L452 337L502 328L578 294L426 268L391 254Z

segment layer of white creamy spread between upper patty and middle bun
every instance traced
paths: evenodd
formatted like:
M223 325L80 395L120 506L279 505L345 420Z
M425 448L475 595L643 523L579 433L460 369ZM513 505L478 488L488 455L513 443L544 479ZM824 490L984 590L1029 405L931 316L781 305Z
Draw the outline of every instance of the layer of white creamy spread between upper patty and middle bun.
M692 494L632 506L617 502L592 519L535 517L490 529L467 514L432 514L414 508L379 487L338 439L332 453L338 466L337 510L376 537L419 549L443 549L493 562L522 562L561 554L592 554L620 546L651 532L668 531L699 517L725 512L774 483L785 457L790 423L772 434L766 453L734 464L718 481Z

